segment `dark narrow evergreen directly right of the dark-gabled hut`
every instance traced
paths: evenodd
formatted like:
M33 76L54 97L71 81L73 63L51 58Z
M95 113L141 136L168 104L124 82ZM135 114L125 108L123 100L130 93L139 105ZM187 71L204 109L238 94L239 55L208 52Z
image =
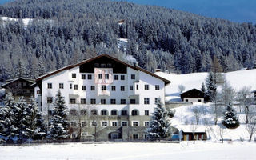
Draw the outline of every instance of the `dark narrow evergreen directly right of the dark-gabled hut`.
M214 76L213 76L212 72L209 72L209 74L206 78L206 88L207 88L206 94L209 96L210 102L213 102L214 99L216 98L217 86L214 83Z

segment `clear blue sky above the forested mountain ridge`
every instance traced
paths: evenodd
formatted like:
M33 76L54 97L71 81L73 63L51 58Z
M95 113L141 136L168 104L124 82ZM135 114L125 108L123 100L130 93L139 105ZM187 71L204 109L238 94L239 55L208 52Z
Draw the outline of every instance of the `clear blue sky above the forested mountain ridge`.
M0 0L0 4L12 0ZM138 4L165 6L233 22L256 23L256 0L122 0Z

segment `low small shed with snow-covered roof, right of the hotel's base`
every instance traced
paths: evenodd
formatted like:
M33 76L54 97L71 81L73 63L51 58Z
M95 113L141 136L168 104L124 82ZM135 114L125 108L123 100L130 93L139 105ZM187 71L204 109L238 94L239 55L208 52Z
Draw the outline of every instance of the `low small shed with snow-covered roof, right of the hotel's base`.
M182 141L206 140L206 127L198 125L184 125L180 129Z

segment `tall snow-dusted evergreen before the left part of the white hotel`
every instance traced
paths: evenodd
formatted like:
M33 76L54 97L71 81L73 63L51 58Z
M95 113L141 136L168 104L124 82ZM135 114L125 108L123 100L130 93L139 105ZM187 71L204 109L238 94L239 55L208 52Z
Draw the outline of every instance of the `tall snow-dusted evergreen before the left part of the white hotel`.
M65 106L65 100L62 97L62 94L59 90L55 96L53 107L54 107L54 115L50 119L48 137L51 139L67 138L68 122L66 119L66 106Z

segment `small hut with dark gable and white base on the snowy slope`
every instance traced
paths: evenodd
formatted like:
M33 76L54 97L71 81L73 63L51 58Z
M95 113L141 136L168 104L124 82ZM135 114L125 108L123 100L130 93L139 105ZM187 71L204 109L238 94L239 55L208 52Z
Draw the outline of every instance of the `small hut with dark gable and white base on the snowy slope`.
M205 93L192 89L181 94L182 102L205 102Z

